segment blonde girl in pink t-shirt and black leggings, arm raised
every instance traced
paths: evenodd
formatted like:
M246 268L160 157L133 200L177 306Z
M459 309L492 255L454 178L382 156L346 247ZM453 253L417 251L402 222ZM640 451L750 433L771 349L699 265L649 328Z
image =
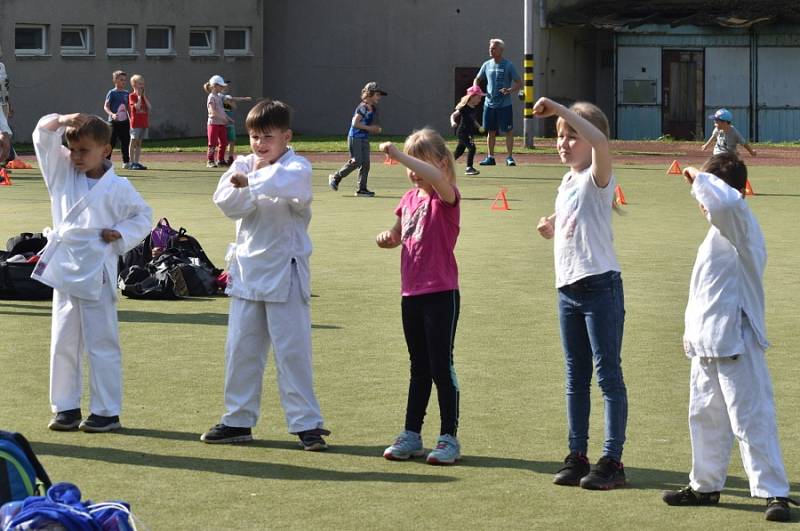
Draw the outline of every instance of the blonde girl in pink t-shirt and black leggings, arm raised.
M405 460L425 454L420 433L436 384L441 429L427 462L449 465L461 458L456 438L459 388L453 367L460 304L453 250L461 204L455 187L455 162L444 139L432 129L412 133L403 151L391 142L384 142L380 149L407 168L413 185L395 209L394 226L376 238L378 247L402 247L401 309L411 358L405 428L383 456Z

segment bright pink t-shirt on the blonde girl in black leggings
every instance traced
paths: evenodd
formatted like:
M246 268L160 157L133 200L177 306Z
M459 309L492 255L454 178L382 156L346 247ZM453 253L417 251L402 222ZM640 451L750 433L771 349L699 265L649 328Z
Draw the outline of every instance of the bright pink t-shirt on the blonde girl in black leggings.
M461 217L461 193L448 205L435 191L417 195L405 193L395 209L400 218L402 251L400 284L402 295L423 295L458 289L456 246Z

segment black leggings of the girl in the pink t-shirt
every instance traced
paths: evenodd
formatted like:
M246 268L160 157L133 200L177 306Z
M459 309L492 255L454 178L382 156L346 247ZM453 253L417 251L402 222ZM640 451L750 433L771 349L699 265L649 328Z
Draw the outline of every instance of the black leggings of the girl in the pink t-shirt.
M461 296L458 290L403 297L403 332L411 359L405 429L422 432L433 384L439 398L441 435L456 436L459 389L453 367Z

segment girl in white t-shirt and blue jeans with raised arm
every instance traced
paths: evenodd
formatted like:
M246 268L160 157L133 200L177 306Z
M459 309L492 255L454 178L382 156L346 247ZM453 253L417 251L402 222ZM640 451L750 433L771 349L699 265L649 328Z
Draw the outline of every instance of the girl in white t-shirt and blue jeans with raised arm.
M558 153L569 167L558 187L555 213L541 218L537 227L544 238L554 238L566 365L569 455L553 482L613 489L625 484L622 446L628 398L620 357L625 307L611 231L615 179L608 120L598 107L586 102L567 109L540 98L533 112L541 118L558 116ZM593 364L605 403L605 443L592 469L587 450Z

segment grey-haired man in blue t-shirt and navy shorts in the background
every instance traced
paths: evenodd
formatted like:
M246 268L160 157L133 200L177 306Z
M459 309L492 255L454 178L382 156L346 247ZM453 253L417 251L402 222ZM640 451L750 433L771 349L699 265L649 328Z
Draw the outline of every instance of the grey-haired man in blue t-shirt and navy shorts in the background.
M494 166L494 144L497 133L506 135L507 166L516 166L512 153L514 151L514 113L511 108L511 94L522 87L522 78L519 77L514 63L503 58L505 43L500 39L489 41L489 55L491 59L483 63L478 76L472 82L478 85L486 80L486 103L483 107L483 127L488 133L486 143L489 154L480 161L481 166Z

